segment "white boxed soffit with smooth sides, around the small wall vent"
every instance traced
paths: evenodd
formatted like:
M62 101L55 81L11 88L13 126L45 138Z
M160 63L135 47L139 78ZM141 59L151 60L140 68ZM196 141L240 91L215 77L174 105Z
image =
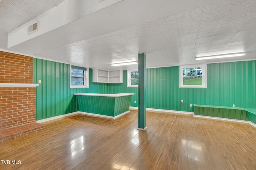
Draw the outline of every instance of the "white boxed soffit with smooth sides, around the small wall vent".
M8 48L36 53L59 47L58 40L64 35L81 33L81 39L88 39L218 1L220 0L197 0L195 2L191 0L105 0L99 3L95 0L66 0L8 33ZM38 31L28 35L27 27L37 20ZM29 41L52 30L54 30L54 36L49 34L48 37L48 41L53 42L51 47L45 47L48 42L41 42L42 49L34 48L34 41ZM19 46L25 41L28 41L26 49L23 45ZM62 42L61 45L70 43L72 41Z

